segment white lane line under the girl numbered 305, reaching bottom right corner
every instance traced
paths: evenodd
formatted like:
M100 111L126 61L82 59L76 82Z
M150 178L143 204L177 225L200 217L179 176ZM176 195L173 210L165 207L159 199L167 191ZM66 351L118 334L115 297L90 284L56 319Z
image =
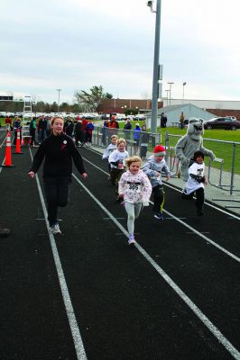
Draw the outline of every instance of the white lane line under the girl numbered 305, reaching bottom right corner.
M114 215L106 209L106 207L102 204L102 202L99 202L97 198L90 193L88 188L78 179L76 175L73 174L73 177L76 179L78 184L82 186L82 188L88 193L88 195L97 202L97 205L106 212L107 216L113 220L115 225L120 229L125 236L128 238L128 232L127 230L115 219ZM223 345L223 347L226 348L226 350L231 354L231 356L235 357L236 360L240 359L240 353L239 351L230 343L230 341L225 338L225 336L220 332L220 330L217 329L217 327L208 319L206 315L200 309L197 305L195 305L194 302L192 302L189 299L189 296L186 295L186 293L183 293L180 287L171 280L171 277L167 275L164 270L162 270L162 267L158 266L157 263L150 257L146 251L141 247L139 244L135 244L135 247L138 249L138 251L143 255L143 257L153 266L153 268L158 272L159 275L162 276L162 278L171 286L171 288L174 290L175 293L177 293L180 296L180 299L185 302L191 311L195 313L195 315L198 316L198 319L201 320L204 325L208 328L208 330L217 338L217 340Z

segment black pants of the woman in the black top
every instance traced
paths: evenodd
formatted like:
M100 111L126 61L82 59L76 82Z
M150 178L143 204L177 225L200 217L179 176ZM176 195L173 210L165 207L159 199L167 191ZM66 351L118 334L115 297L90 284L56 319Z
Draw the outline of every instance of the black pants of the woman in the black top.
M48 220L50 226L58 222L58 207L69 202L70 176L43 177L44 191L48 202Z

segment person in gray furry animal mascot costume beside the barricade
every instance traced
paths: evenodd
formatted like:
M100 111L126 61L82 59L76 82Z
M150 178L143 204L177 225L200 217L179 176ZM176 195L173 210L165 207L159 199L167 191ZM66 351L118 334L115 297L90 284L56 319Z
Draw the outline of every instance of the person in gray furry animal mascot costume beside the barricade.
M187 181L189 178L189 160L193 157L195 151L200 150L204 155L210 157L211 160L215 159L215 155L211 150L203 148L203 132L203 120L189 118L187 134L177 142L176 157L180 159L180 173L184 181Z

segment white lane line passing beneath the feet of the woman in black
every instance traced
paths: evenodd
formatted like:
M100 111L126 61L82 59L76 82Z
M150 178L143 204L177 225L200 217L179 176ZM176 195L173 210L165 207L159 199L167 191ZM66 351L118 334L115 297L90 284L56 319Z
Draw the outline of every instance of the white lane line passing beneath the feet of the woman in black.
M29 150L30 150L30 155L31 155L31 158L32 158L31 148L29 148ZM37 174L35 175L35 177L36 177L36 182L37 182L38 191L39 191L39 195L40 195L40 200L42 202L42 210L43 210L43 213L44 213L46 226L47 226L47 229L48 229L48 232L49 232L49 238L50 238L50 242L51 242L51 251L52 251L52 255L53 255L53 258L54 258L54 263L55 263L57 273L58 273L58 277L59 277L59 281L60 281L60 291L61 291L61 294L62 294L65 309L66 309L66 312L67 312L67 316L68 316L68 320L69 320L69 327L70 327L70 330L71 330L71 335L72 335L72 338L73 338L74 347L75 347L75 350L76 350L76 355L77 355L78 360L87 360L87 355L86 355L85 348L84 348L82 338L81 338L81 335L80 335L80 331L79 331L79 328L78 328L78 322L76 320L76 316L75 316L73 306L72 306L72 303L71 303L71 300L70 300L68 285L66 283L66 279L65 279L65 276L64 276L64 273L63 273L63 269L62 269L62 266L61 266L61 263L60 263L60 256L59 256L58 248L57 248L57 245L56 245L56 242L55 242L55 238L51 234L51 231L50 231L49 226L48 226L48 220L47 220L48 212L47 212L45 202L44 202L44 198L43 198L43 195L42 195L41 184L40 184L39 177L38 177Z

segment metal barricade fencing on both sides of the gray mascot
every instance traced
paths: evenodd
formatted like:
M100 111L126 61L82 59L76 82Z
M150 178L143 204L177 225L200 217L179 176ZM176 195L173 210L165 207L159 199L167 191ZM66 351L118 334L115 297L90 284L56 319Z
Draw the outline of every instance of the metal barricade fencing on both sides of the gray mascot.
M180 164L175 156L175 146L180 135L165 133L166 160L171 167L172 175L180 175ZM209 184L228 191L230 194L240 192L240 142L218 139L203 139L204 148L213 150L214 161L205 158Z

